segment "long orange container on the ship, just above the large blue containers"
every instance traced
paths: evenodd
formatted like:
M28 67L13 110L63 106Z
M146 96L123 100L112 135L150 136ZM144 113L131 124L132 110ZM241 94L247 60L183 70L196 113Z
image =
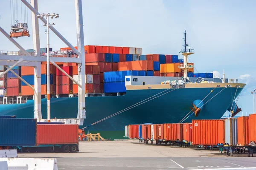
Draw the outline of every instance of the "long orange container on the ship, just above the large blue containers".
M154 70L154 62L147 60L118 62L118 71L129 70Z

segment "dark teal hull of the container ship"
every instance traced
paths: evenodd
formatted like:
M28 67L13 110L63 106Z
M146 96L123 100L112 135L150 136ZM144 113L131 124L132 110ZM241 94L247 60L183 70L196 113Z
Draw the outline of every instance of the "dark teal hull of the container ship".
M209 96L204 99L204 103L207 103L199 115L195 117L195 113L191 112L184 122L191 122L192 119L221 119L230 103L233 102L234 95L236 94L237 97L242 88L225 88L224 90L223 88L215 88L211 91L212 88L146 89L129 90L124 96L86 97L84 126L91 125L150 97L151 100L145 100L145 103L142 102L141 105L130 108L85 130L101 133L106 139L122 139L125 125L177 123L187 117L186 115L192 110L193 101L203 100L208 94ZM218 94L218 92L220 93ZM47 100L42 99L41 103L43 119L47 119ZM25 104L0 105L0 115L16 115L17 118L34 118L33 110L33 100L29 100ZM51 99L51 118L76 118L77 111L77 97ZM80 128L84 126L80 126Z

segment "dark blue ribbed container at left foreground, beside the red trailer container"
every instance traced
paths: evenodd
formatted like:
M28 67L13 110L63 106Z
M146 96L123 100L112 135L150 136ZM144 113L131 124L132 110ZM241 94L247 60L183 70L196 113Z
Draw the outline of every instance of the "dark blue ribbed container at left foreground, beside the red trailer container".
M36 119L0 118L0 146L35 146Z

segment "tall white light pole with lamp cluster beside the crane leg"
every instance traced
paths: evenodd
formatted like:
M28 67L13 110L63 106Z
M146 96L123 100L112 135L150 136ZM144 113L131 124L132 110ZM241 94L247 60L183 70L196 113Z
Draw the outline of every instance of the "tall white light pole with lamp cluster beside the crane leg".
M40 18L47 18L47 24L44 24L44 26L47 26L47 122L51 122L51 109L50 109L50 55L49 55L49 26L55 25L55 23L49 24L49 17L58 18L59 14L38 14L36 17Z

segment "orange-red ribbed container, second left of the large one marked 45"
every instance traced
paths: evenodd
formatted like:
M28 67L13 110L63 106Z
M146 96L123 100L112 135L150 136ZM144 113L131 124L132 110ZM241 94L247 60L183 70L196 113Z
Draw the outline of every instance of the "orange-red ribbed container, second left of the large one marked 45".
M177 140L177 123L163 124L163 139L167 141Z

